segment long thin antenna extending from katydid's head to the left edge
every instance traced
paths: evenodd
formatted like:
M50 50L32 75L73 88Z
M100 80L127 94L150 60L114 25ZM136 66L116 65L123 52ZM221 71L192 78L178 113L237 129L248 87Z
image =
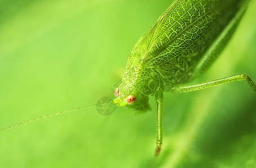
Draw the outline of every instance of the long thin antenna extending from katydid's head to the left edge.
M105 105L105 104L110 104L111 102L104 102L102 104L96 104L96 105L88 105L88 106L83 106L83 107L80 107L80 108L75 108L75 109L70 109L70 110L65 110L65 111L61 111L61 112L57 112L57 113L53 113L53 114L48 114L48 115L44 115L44 116L40 116L38 118L34 118L34 119L30 119L30 120L27 120L26 122L22 122L22 123L19 123L19 124L15 124L15 125L12 125L10 127L6 127L6 128L3 128L0 130L0 132L2 132L3 130L6 130L6 129L10 129L10 128L14 128L14 127L17 127L19 125L23 125L23 124L26 124L26 123L29 123L29 122L33 122L35 120L40 120L40 119L43 119L43 118L47 118L49 116L53 116L53 115L59 115L59 114L63 114L63 113L68 113L70 111L75 111L75 110L80 110L80 109L85 109L85 108L91 108L93 106L97 106L97 105Z

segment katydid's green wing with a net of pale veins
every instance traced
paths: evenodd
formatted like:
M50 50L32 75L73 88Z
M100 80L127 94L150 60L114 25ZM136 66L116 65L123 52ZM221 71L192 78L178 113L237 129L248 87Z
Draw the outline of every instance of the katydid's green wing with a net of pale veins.
M172 64L190 71L244 0L178 0L136 44L143 66Z

